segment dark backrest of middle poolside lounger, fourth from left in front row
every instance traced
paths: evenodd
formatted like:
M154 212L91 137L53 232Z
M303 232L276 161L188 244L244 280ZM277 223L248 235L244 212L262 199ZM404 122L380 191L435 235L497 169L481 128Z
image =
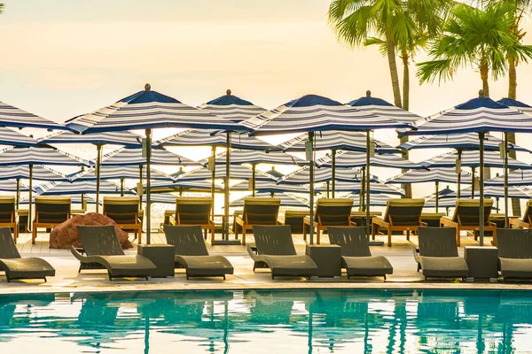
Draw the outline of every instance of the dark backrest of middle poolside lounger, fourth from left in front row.
M254 225L253 235L257 253L269 256L297 255L289 225L259 226Z

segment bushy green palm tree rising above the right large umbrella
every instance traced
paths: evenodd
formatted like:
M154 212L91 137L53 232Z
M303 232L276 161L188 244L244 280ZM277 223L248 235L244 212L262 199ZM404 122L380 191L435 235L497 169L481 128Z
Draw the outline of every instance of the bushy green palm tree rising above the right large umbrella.
M507 53L524 62L532 58L532 46L521 44L512 33L513 13L507 3L490 3L484 10L458 5L432 43L429 54L433 60L418 64L419 81L450 80L458 69L473 66L489 96L489 74L497 80L507 72Z

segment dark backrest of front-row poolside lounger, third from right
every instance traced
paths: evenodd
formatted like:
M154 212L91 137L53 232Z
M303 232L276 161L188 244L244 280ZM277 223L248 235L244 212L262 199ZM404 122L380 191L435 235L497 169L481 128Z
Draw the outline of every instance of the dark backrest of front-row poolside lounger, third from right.
M327 227L329 242L341 247L345 257L371 257L372 251L365 235L365 227Z

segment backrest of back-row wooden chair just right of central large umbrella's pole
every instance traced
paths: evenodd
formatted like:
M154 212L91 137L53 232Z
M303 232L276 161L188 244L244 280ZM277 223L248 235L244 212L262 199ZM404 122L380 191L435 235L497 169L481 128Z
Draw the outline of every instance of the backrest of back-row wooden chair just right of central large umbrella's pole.
M319 198L314 221L320 225L349 226L353 203L351 198Z

